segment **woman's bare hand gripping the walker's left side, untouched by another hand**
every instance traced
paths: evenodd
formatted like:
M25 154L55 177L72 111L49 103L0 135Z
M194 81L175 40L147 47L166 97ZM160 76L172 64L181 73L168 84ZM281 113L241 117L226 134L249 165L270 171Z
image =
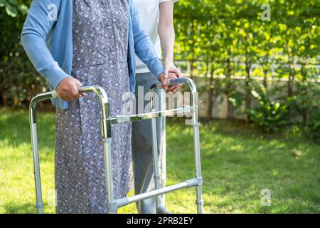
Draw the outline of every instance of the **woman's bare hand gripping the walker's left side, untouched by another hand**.
M70 101L85 96L85 93L79 92L78 87L80 86L82 86L82 83L79 80L68 77L59 83L55 91L59 98Z

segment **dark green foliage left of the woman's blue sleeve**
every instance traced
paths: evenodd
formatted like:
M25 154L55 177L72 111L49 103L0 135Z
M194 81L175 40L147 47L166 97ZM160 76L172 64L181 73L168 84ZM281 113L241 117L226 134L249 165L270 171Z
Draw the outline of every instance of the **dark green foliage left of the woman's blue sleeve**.
M20 34L31 1L0 0L0 105L26 107L45 81L28 60Z

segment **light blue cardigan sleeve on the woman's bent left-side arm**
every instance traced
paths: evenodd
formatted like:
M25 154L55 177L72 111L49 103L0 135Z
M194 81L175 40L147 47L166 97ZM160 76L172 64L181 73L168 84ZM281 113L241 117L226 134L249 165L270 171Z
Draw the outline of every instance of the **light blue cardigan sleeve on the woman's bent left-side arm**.
M56 88L64 78L69 77L53 59L46 45L48 34L55 24L53 14L59 14L60 1L33 0L21 33L21 43L28 58L53 88Z

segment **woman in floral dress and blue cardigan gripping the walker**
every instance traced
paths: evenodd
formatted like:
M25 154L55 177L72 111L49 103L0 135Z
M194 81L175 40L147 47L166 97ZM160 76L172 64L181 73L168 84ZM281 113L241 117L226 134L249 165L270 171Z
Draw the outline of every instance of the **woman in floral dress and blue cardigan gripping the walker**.
M137 53L167 89L164 68L139 25L133 0L33 0L21 42L60 97L52 100L57 107L56 212L104 213L99 102L78 86L101 86L110 99L110 115L121 114L127 103L122 95L134 91ZM130 124L112 126L112 156L114 197L120 198L131 182Z

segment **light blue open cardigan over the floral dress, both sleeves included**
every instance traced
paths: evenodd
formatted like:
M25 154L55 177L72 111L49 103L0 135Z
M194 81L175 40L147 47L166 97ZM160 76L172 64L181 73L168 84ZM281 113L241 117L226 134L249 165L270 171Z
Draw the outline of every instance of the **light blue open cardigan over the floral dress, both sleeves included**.
M129 82L134 92L135 53L158 77L164 72L164 67L149 35L139 24L134 0L127 2L130 12ZM52 20L54 9L58 12L56 21ZM70 77L73 65L73 1L33 0L21 33L21 43L36 70L46 78L50 90L55 89L64 78ZM57 108L68 108L68 102L60 98L52 99L52 103Z

